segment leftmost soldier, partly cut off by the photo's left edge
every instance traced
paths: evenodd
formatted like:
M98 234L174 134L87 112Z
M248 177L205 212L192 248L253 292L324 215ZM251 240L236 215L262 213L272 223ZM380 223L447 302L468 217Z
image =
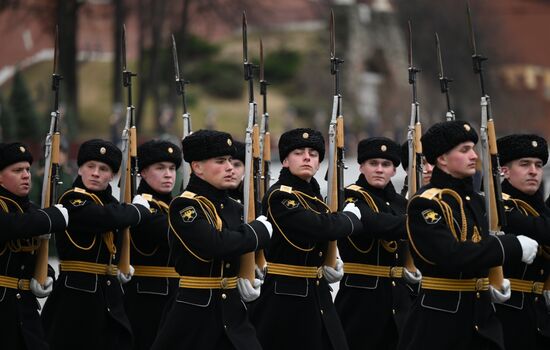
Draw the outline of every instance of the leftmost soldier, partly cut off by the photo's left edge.
M29 201L32 160L22 143L0 143L0 337L4 349L48 349L36 297L51 292L53 279L48 277L42 286L32 278L38 236L63 232L68 222L62 205L39 209Z

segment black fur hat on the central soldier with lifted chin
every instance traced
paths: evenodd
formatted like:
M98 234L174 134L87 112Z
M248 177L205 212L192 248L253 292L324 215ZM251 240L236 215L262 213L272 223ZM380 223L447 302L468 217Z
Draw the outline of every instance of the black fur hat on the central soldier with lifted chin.
M319 152L319 162L325 158L325 139L313 129L298 128L285 132L279 139L279 159L281 163L288 154L297 148L310 147Z

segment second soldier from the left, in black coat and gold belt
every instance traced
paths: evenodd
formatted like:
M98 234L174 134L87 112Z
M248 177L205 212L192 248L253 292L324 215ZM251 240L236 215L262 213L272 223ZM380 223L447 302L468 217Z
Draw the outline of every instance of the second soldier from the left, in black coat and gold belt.
M78 176L59 202L70 225L56 236L59 277L42 319L54 349L130 349L132 331L124 311L121 282L131 276L117 270L121 230L148 217L149 204L121 204L109 182L122 153L111 142L93 139L78 150Z

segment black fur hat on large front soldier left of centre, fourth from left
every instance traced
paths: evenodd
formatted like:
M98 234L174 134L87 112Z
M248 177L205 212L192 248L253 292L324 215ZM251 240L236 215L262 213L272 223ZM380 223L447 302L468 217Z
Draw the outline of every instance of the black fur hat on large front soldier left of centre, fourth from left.
M198 130L183 139L183 158L186 162L219 156L234 156L235 146L230 134L215 130Z

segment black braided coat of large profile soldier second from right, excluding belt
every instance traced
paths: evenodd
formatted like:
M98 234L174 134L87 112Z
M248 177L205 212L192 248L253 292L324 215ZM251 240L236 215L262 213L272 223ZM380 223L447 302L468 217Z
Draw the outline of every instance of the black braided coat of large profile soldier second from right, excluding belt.
M456 179L435 167L431 188L453 190L463 203L466 231L461 226L461 207L450 193L443 201L452 211L456 235L436 199L413 197L407 209L411 252L423 277L470 279L487 277L489 268L521 259L514 236L488 234L483 198L472 188L472 178ZM453 292L420 289L403 334L400 349L503 349L502 327L488 291Z

